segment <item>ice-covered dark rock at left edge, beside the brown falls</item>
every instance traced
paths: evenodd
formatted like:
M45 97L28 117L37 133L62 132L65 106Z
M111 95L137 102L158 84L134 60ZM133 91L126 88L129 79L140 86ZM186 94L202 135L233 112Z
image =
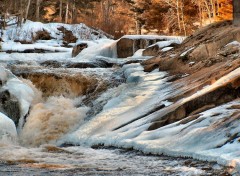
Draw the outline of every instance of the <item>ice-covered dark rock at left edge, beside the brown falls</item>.
M21 128L24 116L34 99L34 91L4 67L0 67L0 75L1 112L9 115L9 118Z

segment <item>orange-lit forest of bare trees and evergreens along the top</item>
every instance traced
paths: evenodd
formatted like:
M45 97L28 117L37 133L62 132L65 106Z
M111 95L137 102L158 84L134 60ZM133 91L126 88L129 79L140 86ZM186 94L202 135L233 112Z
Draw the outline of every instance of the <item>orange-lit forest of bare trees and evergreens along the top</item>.
M125 34L187 36L210 23L231 20L232 1L0 0L0 13L2 23L10 15L41 22L85 23L116 38Z

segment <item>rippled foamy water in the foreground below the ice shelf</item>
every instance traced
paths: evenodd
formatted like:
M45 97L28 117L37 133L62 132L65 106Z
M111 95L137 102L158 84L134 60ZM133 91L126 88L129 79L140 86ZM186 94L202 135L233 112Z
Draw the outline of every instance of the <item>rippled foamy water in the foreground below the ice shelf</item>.
M216 163L111 148L5 148L0 160L1 176L228 175Z

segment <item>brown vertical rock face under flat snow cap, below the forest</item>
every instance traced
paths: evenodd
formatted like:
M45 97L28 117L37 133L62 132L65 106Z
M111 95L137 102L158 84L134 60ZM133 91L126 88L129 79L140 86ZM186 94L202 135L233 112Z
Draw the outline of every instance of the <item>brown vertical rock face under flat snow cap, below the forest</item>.
M123 37L117 42L118 58L126 58L133 56L139 49L145 49L148 46L160 41L161 39L153 38L127 38ZM164 39L163 39L164 40Z

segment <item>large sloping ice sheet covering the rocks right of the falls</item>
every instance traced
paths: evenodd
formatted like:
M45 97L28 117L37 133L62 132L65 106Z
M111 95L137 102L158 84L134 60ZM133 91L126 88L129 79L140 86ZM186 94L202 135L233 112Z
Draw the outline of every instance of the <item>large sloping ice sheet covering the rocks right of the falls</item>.
M108 100L103 111L80 126L76 132L65 136L60 143L64 141L80 145L104 144L134 148L145 153L193 157L217 161L219 164L233 166L237 170L240 168L240 153L237 150L239 138L231 143L227 142L229 136L240 132L238 116L234 117L239 110L230 108L232 105L240 104L239 99L205 111L196 120L187 123L178 121L147 131L153 121L161 120L160 117L183 103L237 79L239 68L192 96L175 103L166 101L168 96L177 93L170 89L171 86L166 82L166 74L144 73L139 64L124 66L123 71L127 79L138 74L142 80L127 82L111 90L119 91L118 94L111 92L112 96L109 96L110 90L107 91L105 95ZM163 104L166 107L148 114L156 104ZM229 123L231 125L227 125Z

